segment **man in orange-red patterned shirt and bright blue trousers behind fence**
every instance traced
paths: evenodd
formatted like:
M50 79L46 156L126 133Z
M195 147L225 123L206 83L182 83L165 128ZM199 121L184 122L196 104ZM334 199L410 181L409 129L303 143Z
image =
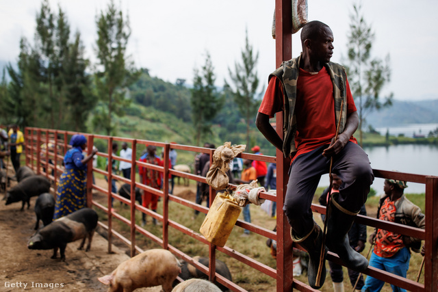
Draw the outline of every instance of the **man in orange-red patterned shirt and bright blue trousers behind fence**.
M425 227L425 217L420 207L408 200L404 194L407 188L405 181L387 179L383 185L385 194L378 203L377 218L389 222L396 222L417 228ZM411 259L411 250L420 252L421 239L399 235L388 230L376 228L370 235L370 243L374 250L370 258L370 266L406 278ZM385 282L368 276L362 291L381 291ZM391 284L393 291L406 291Z

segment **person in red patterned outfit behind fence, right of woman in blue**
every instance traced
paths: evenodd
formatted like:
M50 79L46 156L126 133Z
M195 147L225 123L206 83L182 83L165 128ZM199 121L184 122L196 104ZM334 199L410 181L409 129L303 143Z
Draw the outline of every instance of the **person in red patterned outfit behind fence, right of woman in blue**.
M147 152L140 157L140 161L145 163L150 163L153 165L163 166L162 159L159 159L155 152L157 148L155 146L149 145L147 147ZM150 168L144 168L139 166L138 174L142 178L142 183L154 189L161 189L162 187L162 174L157 170L151 170ZM144 191L142 198L143 207L149 208L154 212L157 212L158 196L150 193L149 191ZM146 224L146 214L142 214L142 226ZM153 224L157 224L157 220L153 218Z

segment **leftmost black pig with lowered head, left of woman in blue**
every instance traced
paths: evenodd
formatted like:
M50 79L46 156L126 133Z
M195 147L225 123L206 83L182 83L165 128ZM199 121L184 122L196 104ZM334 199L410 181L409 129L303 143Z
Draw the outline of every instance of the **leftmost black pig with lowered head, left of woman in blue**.
M27 209L30 207L30 198L40 196L40 194L48 193L50 191L49 180L42 175L29 176L6 193L6 204L14 202L22 202L21 210L25 209L27 202Z

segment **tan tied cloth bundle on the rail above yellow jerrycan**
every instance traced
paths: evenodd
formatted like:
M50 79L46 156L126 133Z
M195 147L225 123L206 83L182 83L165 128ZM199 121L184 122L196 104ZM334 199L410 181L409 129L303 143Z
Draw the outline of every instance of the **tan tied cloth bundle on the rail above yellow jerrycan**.
M246 145L233 145L231 142L225 142L223 146L219 146L213 155L213 163L211 164L206 181L214 189L227 189L229 177L227 175L230 169L230 163L234 157L244 152Z

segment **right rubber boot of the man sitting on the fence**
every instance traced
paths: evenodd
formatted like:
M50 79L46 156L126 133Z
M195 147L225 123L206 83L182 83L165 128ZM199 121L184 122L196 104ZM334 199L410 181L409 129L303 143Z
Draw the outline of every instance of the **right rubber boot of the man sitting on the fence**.
M348 240L350 230L357 212L351 212L337 203L339 193L332 194L329 206L329 220L327 222L326 247L335 252L344 264L357 271L365 271L368 260L365 256L352 249Z

